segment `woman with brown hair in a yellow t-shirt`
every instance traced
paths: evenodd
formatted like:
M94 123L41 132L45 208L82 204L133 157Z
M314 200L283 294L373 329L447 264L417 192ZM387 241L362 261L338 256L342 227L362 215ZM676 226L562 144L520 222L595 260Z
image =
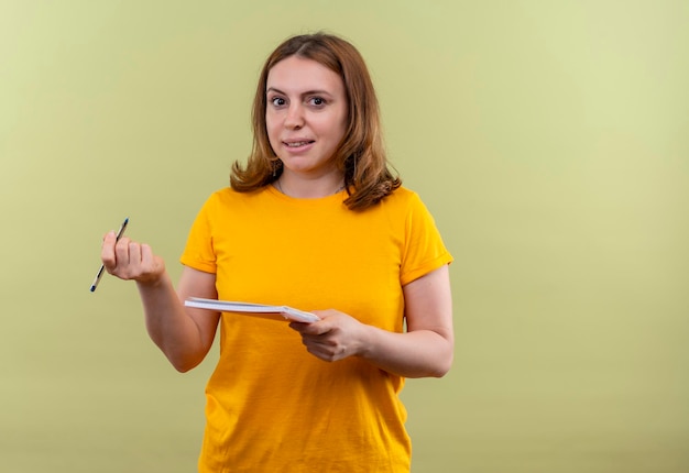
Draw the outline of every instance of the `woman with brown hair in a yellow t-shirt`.
M375 92L348 42L281 44L261 73L254 145L210 196L175 290L151 248L105 237L107 271L136 280L146 329L208 382L201 472L408 472L398 394L452 362L448 264L431 216L389 169ZM188 297L288 305L310 323L184 306ZM405 328L406 322L406 328Z

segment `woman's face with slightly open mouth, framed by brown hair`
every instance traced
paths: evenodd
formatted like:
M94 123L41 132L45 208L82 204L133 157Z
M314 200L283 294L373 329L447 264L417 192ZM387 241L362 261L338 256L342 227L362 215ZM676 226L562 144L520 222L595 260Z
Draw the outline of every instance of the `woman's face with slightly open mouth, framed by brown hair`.
M287 172L318 177L344 136L347 95L340 76L321 64L289 56L267 75L265 123Z

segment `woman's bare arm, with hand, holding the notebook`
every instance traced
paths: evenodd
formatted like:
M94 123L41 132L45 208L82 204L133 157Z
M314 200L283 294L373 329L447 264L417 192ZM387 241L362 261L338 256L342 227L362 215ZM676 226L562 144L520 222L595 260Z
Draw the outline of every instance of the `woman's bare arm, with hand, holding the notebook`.
M367 326L337 310L315 311L322 320L291 323L307 350L326 361L360 356L404 377L441 377L452 364L452 296L448 266L403 287L407 331Z

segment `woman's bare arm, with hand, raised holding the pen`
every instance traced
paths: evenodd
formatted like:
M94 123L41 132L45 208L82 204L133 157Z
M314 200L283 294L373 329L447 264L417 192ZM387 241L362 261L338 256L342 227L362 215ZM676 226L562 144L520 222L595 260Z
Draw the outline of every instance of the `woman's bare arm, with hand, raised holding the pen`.
M151 246L127 237L117 241L114 232L103 239L101 260L108 273L136 282L149 336L172 365L179 372L197 366L212 345L220 314L185 307L184 300L217 298L216 275L185 266L175 292Z

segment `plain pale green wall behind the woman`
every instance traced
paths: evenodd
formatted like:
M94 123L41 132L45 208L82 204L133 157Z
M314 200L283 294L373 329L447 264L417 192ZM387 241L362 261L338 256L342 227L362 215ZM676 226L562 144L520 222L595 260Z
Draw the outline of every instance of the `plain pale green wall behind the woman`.
M100 238L129 216L176 278L262 62L325 29L456 257L453 370L404 393L414 471L689 471L687 24L682 0L0 1L0 470L195 470L215 354L177 374L133 285L88 292Z

